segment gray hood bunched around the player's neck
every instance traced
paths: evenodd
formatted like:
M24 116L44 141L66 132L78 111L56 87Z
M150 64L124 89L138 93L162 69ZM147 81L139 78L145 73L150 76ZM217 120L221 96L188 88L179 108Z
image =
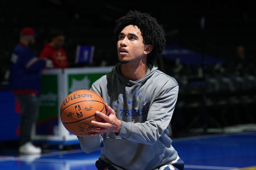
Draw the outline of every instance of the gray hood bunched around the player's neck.
M154 65L151 65L149 63L147 63L147 72L146 72L146 75L139 79L139 80L136 80L136 81L132 81L132 80L129 80L127 78L125 78L122 73L121 73L121 66L122 64L121 63L118 63L113 69L112 71L116 74L116 76L126 85L128 86L132 86L132 85L138 85L138 84L142 84L144 82L146 82L153 74L154 72L158 69L157 67L155 67Z

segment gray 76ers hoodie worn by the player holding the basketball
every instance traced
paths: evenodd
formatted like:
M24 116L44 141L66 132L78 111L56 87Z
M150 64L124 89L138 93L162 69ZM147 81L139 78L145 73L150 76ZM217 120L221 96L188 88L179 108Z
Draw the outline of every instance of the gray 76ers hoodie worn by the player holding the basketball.
M122 76L119 63L91 90L115 110L122 125L118 135L78 137L84 152L97 150L103 141L100 158L127 170L151 170L178 161L167 136L179 90L174 78L148 64L146 76L132 81Z

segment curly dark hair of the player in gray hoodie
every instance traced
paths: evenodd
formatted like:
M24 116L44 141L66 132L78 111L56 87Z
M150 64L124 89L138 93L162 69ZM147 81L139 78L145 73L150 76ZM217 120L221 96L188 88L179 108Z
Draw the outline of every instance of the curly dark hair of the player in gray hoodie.
M157 23L156 18L149 16L147 13L129 11L116 21L114 41L118 41L119 33L129 25L138 26L143 37L143 43L153 46L152 51L147 56L147 61L153 63L156 57L159 57L163 52L166 44L164 29Z

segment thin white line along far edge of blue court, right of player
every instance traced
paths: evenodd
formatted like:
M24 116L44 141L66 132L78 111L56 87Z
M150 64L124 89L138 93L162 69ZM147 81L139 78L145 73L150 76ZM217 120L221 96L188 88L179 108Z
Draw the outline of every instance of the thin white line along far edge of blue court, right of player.
M188 140L197 140L197 139L208 139L215 137L228 137L228 136L238 136L238 135L247 135L255 132L244 132L244 133L231 133L231 134L216 134L216 135L203 135L203 136L193 136L193 137L179 137L172 139L173 142L179 141L188 141Z

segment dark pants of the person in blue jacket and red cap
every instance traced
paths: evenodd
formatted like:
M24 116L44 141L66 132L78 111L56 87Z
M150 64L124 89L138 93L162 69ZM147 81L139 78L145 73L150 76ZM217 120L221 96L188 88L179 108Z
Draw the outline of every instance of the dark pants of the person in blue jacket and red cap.
M32 125L38 115L38 100L34 94L15 95L20 103L20 146L31 140Z

